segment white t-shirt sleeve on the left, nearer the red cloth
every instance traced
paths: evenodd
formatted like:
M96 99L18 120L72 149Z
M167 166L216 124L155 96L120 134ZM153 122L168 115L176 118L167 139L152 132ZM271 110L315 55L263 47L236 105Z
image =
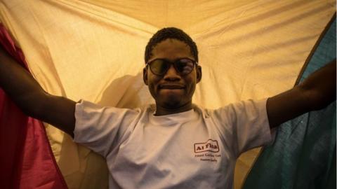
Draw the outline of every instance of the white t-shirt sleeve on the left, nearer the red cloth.
M139 115L140 110L103 107L81 100L75 109L74 142L105 157Z

